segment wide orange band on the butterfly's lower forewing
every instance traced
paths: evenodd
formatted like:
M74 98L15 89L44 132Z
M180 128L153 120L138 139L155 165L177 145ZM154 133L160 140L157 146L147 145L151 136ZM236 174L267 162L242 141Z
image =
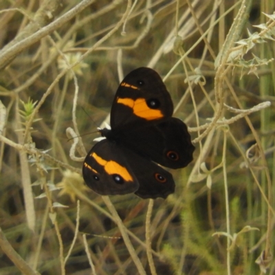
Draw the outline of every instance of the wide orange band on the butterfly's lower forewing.
M96 153L92 153L91 156L94 157L94 159L96 159L96 162L98 162L98 164L104 166L104 170L109 175L118 174L120 175L120 177L123 177L125 181L133 181L133 177L131 177L127 169L118 164L118 162L113 162L113 160L107 161L105 159L102 159L102 157L96 155Z

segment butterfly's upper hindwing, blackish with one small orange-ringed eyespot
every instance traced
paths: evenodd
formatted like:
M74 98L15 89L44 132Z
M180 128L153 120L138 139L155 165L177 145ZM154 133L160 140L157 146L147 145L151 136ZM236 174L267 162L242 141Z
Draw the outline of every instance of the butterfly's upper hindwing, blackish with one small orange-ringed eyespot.
M178 118L132 126L120 133L120 142L168 168L183 168L192 161L195 147L187 126Z

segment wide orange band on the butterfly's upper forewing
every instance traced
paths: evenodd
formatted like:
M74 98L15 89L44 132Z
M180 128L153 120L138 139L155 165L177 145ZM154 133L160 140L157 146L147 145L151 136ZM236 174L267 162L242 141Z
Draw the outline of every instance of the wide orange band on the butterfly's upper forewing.
M162 111L157 109L150 109L144 98L137 98L133 100L131 98L118 98L118 103L124 104L125 106L133 109L133 113L140 118L145 118L146 120L157 120L163 118Z

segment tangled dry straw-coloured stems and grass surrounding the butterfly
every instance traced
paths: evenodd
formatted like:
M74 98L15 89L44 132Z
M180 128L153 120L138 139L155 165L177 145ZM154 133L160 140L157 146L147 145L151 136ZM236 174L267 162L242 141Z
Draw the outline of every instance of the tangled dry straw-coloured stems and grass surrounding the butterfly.
M275 274L274 7L2 0L0 274ZM83 157L141 66L195 159L166 200L101 197Z

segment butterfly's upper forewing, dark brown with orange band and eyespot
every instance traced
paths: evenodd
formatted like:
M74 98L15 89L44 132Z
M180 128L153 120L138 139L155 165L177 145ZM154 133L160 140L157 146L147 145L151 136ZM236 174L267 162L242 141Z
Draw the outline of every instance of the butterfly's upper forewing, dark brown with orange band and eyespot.
M111 129L131 124L146 124L169 118L173 102L159 74L141 67L128 74L115 94L111 108Z

